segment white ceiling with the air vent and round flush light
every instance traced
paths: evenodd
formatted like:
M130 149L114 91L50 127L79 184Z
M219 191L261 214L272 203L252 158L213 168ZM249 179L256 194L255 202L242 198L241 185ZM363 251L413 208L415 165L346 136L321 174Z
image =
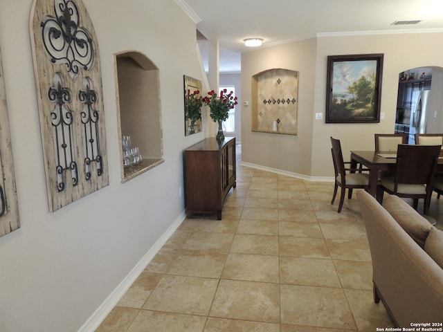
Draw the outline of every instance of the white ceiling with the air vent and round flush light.
M243 44L248 37L263 38L260 47L269 47L321 35L443 32L442 0L174 1L201 35L219 40L221 73L239 73L241 53L251 50ZM199 40L206 69L207 43Z

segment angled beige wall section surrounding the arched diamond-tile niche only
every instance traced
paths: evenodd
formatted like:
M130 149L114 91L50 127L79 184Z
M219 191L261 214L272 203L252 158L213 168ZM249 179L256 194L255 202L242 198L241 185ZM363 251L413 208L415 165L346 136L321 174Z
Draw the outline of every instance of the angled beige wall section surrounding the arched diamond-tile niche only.
M316 40L242 53L242 160L246 163L310 174L314 109ZM251 77L272 68L299 72L298 135L251 131Z

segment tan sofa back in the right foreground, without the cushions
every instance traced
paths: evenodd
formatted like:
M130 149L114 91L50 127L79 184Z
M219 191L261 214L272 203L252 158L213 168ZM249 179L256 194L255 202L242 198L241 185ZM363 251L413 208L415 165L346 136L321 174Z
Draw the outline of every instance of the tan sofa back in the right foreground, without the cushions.
M357 197L368 234L372 280L396 324L443 322L442 268L374 197L363 191Z

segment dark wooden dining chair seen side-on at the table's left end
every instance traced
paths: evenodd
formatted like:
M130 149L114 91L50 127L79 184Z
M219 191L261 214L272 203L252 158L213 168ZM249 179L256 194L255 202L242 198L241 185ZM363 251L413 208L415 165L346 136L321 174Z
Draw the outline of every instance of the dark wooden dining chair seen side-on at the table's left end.
M352 190L356 188L362 188L368 190L369 187L369 174L361 173L362 171L367 171L368 169L356 168L351 169L346 168L345 164L350 164L350 161L343 161L343 154L341 152L340 140L336 140L331 137L332 144L332 162L334 163L335 172L335 183L334 183L334 194L332 195L331 204L334 204L338 187L341 187L340 202L338 203L337 212L340 213L343 208L343 202L345 201L345 192L347 189L347 198L352 198ZM358 173L355 173L358 172Z

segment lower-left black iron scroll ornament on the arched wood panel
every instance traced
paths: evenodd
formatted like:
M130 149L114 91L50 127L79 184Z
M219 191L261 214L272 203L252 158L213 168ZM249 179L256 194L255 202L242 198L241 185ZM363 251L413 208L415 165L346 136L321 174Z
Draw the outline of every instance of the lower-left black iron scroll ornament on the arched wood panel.
M63 86L60 73L55 73L53 82L48 97L56 104L51 112L51 123L57 163L57 190L62 192L66 187L66 170L71 169L72 184L77 185L78 169L74 158L73 112L66 107L66 103L71 102L71 91Z

